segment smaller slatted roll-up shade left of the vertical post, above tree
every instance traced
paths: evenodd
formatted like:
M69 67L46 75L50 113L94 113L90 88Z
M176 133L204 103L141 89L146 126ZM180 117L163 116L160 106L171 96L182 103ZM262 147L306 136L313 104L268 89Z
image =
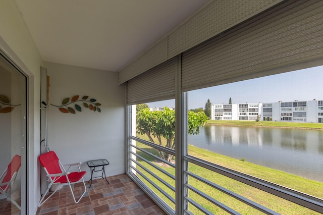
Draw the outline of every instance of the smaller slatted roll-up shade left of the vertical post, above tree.
M175 98L175 58L127 81L127 104Z

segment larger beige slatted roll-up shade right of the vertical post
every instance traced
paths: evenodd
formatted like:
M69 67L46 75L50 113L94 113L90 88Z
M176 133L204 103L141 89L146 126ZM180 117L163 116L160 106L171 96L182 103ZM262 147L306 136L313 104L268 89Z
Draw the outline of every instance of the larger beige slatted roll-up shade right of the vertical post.
M183 52L181 90L263 76L322 57L323 1L285 1Z

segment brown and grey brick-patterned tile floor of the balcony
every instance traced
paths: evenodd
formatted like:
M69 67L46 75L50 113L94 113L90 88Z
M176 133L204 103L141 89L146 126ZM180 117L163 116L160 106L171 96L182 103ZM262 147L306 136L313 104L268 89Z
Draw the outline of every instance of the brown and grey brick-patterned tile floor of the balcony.
M93 180L87 193L75 204L69 187L63 187L38 208L37 214L166 214L126 175ZM77 196L84 189L82 183L74 184Z

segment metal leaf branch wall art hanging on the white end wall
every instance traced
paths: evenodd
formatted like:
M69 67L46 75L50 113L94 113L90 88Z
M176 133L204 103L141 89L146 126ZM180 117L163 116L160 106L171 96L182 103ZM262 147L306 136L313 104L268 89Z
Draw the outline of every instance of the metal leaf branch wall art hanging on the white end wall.
M51 105L56 106L62 113L65 114L75 114L76 111L82 112L82 107L89 109L90 111L97 111L101 113L101 109L99 108L101 104L96 102L95 98L89 99L89 96L87 95L84 95L82 98L80 98L79 95L74 95L72 98L64 98L62 101L62 105Z

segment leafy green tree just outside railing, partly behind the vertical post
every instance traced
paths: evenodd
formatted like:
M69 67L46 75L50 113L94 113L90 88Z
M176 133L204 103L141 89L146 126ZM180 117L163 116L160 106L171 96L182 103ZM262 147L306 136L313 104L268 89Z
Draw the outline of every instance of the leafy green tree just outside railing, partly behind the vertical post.
M151 112L148 108L137 113L137 132L145 134L150 142L155 143L157 139L159 145L168 148L175 148L175 111L165 107L164 111ZM199 134L200 127L204 126L207 117L203 112L188 112L188 133L189 135ZM166 140L163 140L164 137ZM173 155L158 150L159 157L167 160L173 158Z

